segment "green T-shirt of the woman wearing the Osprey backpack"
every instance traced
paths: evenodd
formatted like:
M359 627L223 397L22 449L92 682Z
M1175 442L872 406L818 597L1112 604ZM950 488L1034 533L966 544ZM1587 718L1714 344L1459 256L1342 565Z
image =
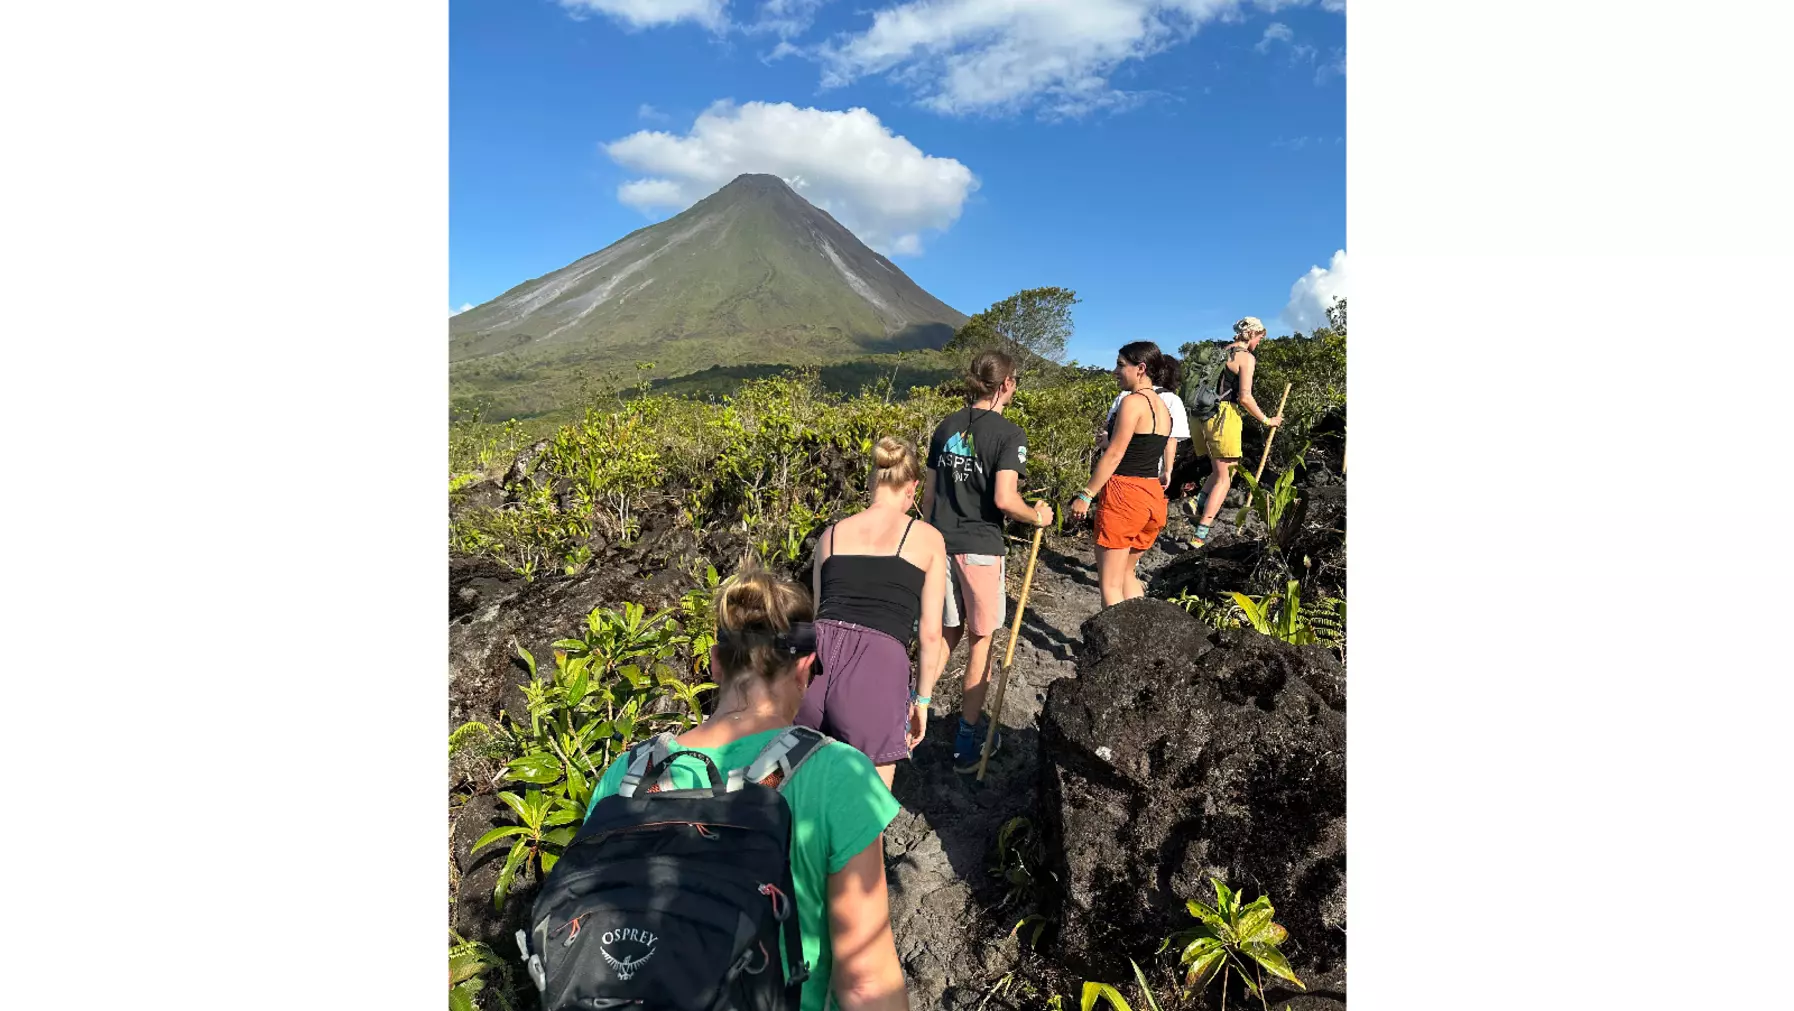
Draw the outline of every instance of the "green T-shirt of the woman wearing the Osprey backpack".
M721 771L741 769L753 762L762 747L784 730L768 730L743 737L723 747L685 747L707 755ZM678 747L675 744L675 747ZM623 785L624 762L610 764L592 805L608 798ZM710 785L703 762L673 760L673 785L698 789ZM804 981L802 1011L822 1011L829 1000L829 981L834 977L834 952L829 945L829 875L847 866L847 860L870 846L902 807L884 789L872 760L840 740L822 746L791 776L784 789L791 807L791 884L797 887L797 921L804 930L804 961L809 979Z

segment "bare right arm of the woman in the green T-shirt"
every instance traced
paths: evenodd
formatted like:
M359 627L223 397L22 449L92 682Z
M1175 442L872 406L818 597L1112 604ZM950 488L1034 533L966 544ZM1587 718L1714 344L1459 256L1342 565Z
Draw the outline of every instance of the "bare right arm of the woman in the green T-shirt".
M829 875L829 941L841 1011L910 1011L884 891L883 835Z

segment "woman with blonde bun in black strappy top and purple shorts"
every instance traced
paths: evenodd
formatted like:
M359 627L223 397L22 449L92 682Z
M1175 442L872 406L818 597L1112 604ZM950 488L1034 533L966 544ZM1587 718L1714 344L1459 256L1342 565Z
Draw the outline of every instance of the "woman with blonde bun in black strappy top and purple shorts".
M872 450L872 504L822 532L811 586L816 593L816 674L797 722L852 744L890 787L897 760L927 733L927 706L947 665L940 635L947 597L947 545L919 523L915 446L884 436ZM922 640L910 690L910 629Z

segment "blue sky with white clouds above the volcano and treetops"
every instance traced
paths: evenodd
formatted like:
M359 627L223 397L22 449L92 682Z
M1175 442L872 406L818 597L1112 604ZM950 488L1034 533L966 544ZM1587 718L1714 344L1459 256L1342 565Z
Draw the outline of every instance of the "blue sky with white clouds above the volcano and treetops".
M1075 289L1082 362L1308 328L1344 50L1344 0L452 0L450 310L773 172L965 314Z

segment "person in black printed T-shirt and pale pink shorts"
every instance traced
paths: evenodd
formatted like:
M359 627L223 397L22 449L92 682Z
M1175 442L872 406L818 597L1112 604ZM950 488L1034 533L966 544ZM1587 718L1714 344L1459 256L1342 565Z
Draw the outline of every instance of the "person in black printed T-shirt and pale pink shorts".
M965 409L954 410L935 427L927 443L929 480L922 486L922 516L940 531L947 545L945 627L947 649L960 645L971 629L965 663L965 690L960 726L953 739L953 767L978 769L985 733L996 733L996 755L1003 735L981 722L985 708L990 642L1003 627L1008 606L1003 586L1003 520L1046 527L1053 507L1021 497L1021 475L1028 468L1028 436L1003 409L1015 398L1015 360L1003 351L980 351L965 375ZM992 722L1001 713L992 713Z

